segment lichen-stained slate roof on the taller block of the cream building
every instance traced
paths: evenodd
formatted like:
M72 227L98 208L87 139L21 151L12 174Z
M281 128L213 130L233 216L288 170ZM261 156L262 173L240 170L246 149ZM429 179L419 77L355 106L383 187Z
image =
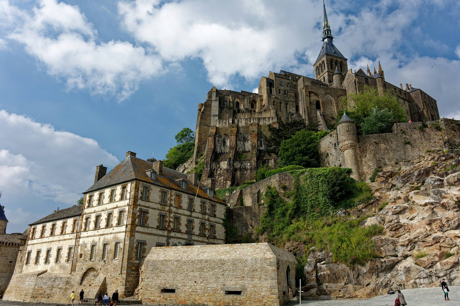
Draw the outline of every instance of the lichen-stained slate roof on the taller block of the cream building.
M187 174L178 172L173 169L169 169L167 167L163 167L163 172L161 175L157 174L156 180L150 178L147 175L147 171L152 169L153 164L150 161L145 161L138 157L134 157L132 155L127 156L123 161L121 161L118 165L116 165L112 170L109 171L104 177L96 182L96 184L92 185L88 188L84 194L98 190L107 186L121 184L122 182L127 182L132 179L142 180L149 184L154 184L157 186L161 186L168 189L175 189L184 193L188 193L190 195L196 195L196 186L193 186L190 181L188 180ZM184 179L188 182L187 189L182 188L176 180ZM199 182L200 190L198 191L198 195L201 198L210 199L219 203L224 204L222 200L220 200L216 195L213 197L207 195L207 193L203 190L206 188L201 182Z

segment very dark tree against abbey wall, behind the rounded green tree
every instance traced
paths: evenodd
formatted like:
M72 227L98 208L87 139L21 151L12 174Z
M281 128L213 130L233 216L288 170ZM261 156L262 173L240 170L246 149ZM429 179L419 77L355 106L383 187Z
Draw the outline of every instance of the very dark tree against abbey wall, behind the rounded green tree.
M278 154L283 140L290 139L295 133L306 128L305 119L286 122L280 120L277 123L277 128L272 124L268 126L270 136L267 138L267 152L270 154Z

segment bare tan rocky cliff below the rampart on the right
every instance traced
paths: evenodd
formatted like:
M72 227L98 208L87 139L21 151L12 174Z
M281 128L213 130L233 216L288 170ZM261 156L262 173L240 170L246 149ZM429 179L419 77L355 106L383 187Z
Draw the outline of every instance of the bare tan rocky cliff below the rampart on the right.
M362 298L392 289L435 287L442 278L460 285L460 159L442 151L384 166L368 184L374 199L347 213L380 224L373 238L380 258L364 265L334 263L332 254L310 252L303 295ZM343 213L343 212L342 212ZM290 243L288 250L303 249Z

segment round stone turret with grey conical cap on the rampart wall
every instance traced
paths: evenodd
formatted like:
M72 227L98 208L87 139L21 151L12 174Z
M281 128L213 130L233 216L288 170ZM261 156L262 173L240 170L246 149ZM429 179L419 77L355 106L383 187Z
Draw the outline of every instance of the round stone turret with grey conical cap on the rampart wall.
M359 180L359 167L356 156L356 148L358 145L356 123L351 120L345 112L342 119L337 123L337 136L345 167L351 168L351 177Z

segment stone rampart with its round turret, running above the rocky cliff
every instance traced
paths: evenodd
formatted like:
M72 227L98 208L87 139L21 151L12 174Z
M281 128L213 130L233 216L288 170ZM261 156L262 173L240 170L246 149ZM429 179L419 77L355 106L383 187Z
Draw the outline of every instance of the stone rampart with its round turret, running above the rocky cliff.
M442 118L425 125L396 123L391 133L374 135L356 135L356 127L351 131L353 126L350 121L339 123L320 140L322 167L350 167L358 173L355 178L366 179L375 168L411 160L427 150L458 150L460 146L460 121L454 119Z

